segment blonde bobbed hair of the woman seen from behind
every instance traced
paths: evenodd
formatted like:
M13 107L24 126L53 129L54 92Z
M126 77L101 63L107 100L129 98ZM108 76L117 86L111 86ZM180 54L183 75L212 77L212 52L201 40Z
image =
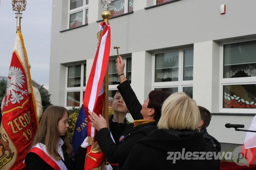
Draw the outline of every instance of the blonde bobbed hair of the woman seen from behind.
M170 95L163 103L158 129L196 130L200 120L196 101L186 93L177 92Z

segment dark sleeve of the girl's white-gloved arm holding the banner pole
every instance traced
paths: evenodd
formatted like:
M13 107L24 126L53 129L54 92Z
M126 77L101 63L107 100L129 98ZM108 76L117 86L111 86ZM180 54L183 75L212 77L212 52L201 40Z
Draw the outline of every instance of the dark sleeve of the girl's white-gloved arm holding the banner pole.
M86 151L86 148L79 146L74 161L75 170L84 170Z

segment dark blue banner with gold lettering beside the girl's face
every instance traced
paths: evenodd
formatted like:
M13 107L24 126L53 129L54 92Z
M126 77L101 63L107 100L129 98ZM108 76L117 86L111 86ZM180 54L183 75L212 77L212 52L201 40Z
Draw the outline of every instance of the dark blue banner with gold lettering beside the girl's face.
M78 114L76 121L76 126L72 138L72 147L74 156L77 153L79 146L83 143L84 139L87 137L87 117L84 111L84 106L82 105L81 110Z

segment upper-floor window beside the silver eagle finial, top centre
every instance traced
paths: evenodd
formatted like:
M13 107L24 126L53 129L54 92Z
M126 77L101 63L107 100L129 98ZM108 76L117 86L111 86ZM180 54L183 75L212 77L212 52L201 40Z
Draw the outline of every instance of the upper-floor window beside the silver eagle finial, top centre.
M133 11L133 0L112 0L108 9L111 17Z

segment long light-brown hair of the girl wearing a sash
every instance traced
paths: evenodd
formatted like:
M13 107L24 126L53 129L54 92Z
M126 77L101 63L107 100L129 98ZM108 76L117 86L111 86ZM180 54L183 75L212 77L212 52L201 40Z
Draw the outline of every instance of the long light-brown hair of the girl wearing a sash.
M48 107L42 115L38 130L31 144L31 147L37 143L45 144L47 152L57 161L62 159L58 156L58 122L65 113L69 115L66 108L60 106ZM71 157L73 150L68 140L68 134L66 133L62 139L66 146L66 152Z

